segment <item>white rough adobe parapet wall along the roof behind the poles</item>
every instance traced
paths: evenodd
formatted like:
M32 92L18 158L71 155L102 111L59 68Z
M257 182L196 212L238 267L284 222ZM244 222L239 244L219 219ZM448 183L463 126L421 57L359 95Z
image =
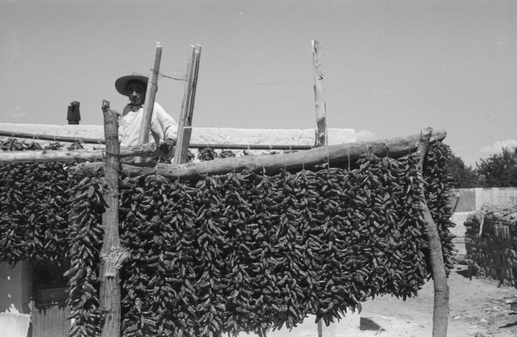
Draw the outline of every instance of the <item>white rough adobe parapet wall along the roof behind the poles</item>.
M0 130L78 138L104 139L101 125L46 125L0 123ZM328 129L328 144L353 143L354 129ZM5 139L6 137L0 137ZM314 129L192 128L192 144L313 145ZM43 141L42 141L43 142ZM95 144L86 144L86 148Z

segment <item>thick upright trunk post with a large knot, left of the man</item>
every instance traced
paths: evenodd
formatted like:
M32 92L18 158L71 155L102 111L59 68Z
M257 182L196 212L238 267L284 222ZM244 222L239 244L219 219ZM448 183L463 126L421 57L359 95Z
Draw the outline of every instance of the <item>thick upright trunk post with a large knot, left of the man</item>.
M118 236L118 118L115 111L110 110L110 103L102 102L104 114L105 181L108 191L104 194L107 204L102 214L104 239L100 251L100 310L102 313L101 337L120 335L120 275L118 270L129 256L126 249L120 246Z

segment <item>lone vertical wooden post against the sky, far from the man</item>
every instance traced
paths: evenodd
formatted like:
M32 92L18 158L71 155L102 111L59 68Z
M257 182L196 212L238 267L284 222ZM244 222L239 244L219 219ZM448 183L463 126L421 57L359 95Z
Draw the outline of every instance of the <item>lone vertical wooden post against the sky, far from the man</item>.
M316 142L317 146L327 145L327 113L325 106L325 87L321 62L321 45L312 40L312 68L314 72L314 101L316 103Z

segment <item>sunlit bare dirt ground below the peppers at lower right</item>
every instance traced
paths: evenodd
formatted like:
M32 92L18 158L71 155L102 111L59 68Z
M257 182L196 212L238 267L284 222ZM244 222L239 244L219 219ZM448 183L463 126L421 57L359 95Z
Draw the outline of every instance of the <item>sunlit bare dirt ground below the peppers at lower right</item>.
M448 336L517 336L517 311L509 302L517 302L517 289L473 277L466 277L466 266L457 265L449 277ZM517 303L516 303L517 304ZM517 310L517 309L516 309ZM433 282L406 301L391 296L363 304L359 331L337 336L413 337L431 336L433 319Z

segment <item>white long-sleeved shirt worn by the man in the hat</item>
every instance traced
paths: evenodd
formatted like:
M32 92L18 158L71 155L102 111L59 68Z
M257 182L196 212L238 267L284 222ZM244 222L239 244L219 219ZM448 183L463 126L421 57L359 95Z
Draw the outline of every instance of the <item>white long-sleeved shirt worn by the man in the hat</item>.
M119 134L121 138L120 146L137 146L141 145L138 142L140 128L142 126L142 117L144 115L144 108L138 111L127 111L123 113L120 118ZM153 118L151 119L150 136L160 144L160 140L176 140L178 134L178 124L168 113L163 110L162 106L155 102L153 109Z

